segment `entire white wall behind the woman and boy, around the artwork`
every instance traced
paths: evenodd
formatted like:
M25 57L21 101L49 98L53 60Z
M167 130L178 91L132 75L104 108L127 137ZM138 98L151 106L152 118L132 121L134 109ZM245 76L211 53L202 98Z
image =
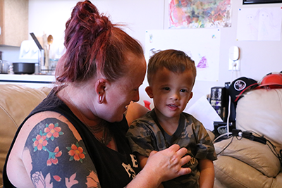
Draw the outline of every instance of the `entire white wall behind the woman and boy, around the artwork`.
M66 20L71 15L71 8L77 0L30 0L29 32L36 35L53 35L54 40L63 39ZM260 80L266 73L282 70L282 42L247 42L236 41L237 17L239 8L281 7L282 4L243 5L243 0L232 0L232 27L221 28L221 51L219 57L219 80L217 82L197 81L193 89L194 96L188 107L197 99L210 92L211 87L223 86L237 77L251 77ZM162 30L168 25L168 0L92 0L101 13L111 15L114 23L127 23L125 29L129 35L138 39L145 47L146 30ZM204 29L199 29L204 30ZM30 38L31 39L31 38ZM240 48L240 71L228 71L228 49ZM147 82L145 81L145 84ZM149 100L140 88L141 102Z

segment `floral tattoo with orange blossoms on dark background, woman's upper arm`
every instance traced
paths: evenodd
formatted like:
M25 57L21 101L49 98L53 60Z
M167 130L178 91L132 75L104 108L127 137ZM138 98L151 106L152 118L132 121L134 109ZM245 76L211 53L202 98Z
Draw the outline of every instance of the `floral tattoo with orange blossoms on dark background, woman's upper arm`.
M35 187L100 187L85 144L56 118L42 120L25 144L30 151L30 178Z

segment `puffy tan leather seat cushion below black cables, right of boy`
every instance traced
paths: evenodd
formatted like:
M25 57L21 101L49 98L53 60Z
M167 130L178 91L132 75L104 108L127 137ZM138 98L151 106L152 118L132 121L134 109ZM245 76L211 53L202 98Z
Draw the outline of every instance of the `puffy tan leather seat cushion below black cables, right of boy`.
M239 140L233 137L233 139L229 138L217 142L214 146L216 153L221 152L220 155L222 156L237 158L268 177L276 177L281 170L281 164L279 159L266 144L245 138Z

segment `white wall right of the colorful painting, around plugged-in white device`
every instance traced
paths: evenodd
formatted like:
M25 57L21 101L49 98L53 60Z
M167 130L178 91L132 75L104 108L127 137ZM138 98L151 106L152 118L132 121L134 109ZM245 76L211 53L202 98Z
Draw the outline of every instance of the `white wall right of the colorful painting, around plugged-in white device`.
M237 77L251 77L261 80L264 75L270 72L280 72L282 70L282 42L251 42L237 41L237 17L239 8L258 7L281 7L282 4L253 4L243 5L243 0L233 0L232 2L232 26L221 29L221 48L219 57L219 81L195 83L195 98L210 92L214 86L224 86L224 82L234 80ZM228 71L228 50L230 46L240 48L240 71ZM192 101L191 101L192 102Z

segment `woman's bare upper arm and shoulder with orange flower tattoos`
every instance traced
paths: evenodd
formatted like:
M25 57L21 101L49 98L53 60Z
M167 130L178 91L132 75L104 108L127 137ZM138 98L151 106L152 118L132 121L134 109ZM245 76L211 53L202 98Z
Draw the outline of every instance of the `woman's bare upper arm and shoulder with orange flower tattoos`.
M33 115L20 131L8 162L11 182L16 187L100 187L78 131L58 113L47 114Z

